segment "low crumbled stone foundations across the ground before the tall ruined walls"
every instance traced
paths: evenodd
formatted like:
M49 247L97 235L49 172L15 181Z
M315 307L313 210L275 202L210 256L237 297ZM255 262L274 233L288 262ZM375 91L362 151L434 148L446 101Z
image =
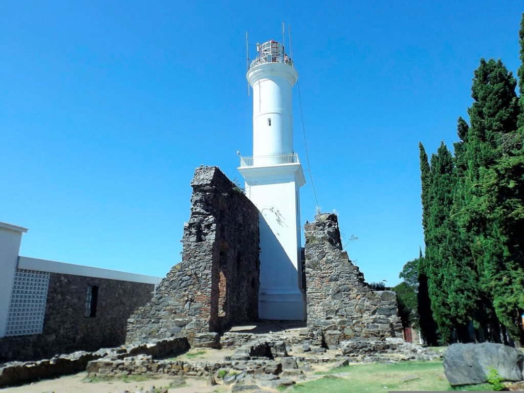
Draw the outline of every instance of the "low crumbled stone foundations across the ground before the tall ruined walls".
M224 348L233 348L221 361L189 361L177 357L190 346L185 337L155 343L106 348L93 353L77 352L39 362L12 362L0 367L0 386L19 385L41 378L86 370L89 376L170 375L223 378L223 383L256 384L277 388L305 379L316 363L399 362L438 358L428 348L401 339L343 341L337 350L326 350L307 339L309 330L277 333L226 333ZM214 350L213 350L214 351Z

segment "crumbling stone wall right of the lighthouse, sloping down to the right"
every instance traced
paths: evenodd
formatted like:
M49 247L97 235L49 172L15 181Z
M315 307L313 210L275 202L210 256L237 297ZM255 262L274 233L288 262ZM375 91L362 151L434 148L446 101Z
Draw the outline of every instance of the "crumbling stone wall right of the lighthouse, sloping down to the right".
M368 337L402 337L395 292L375 292L342 250L335 214L304 225L308 328L325 343Z

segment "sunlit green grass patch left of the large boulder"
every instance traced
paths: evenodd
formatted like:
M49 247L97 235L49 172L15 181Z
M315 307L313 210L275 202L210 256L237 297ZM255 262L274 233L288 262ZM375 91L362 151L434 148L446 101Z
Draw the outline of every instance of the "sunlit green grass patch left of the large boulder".
M286 391L313 393L387 391L490 391L489 384L452 388L444 376L442 361L352 364L329 370L322 378L294 385Z

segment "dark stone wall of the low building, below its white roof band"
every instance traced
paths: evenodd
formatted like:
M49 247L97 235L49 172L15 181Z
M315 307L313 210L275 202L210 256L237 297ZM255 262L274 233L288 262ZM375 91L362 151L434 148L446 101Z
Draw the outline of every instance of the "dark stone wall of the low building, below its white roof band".
M85 316L89 286L99 287L94 317ZM0 339L0 362L124 344L129 315L154 290L147 283L50 273L42 333Z

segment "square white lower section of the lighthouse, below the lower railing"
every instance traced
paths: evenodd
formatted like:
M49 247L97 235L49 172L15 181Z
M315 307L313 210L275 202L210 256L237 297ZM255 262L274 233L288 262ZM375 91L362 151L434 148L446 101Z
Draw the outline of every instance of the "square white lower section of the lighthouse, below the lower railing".
M260 319L305 321L300 269L299 162L241 167L246 196L260 211Z

